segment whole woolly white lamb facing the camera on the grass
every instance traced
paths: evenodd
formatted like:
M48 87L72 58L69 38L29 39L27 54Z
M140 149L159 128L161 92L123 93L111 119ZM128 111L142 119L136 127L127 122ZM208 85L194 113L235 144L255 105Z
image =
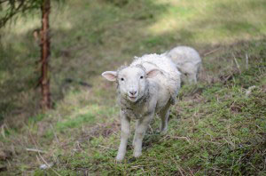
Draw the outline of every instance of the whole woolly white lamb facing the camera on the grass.
M133 119L137 120L133 139L134 156L141 156L142 141L155 114L161 118L160 132L165 133L168 129L169 108L176 103L181 74L168 57L147 54L136 57L129 67L106 71L102 76L116 82L121 107L121 143L116 161L121 162L126 154L129 123Z

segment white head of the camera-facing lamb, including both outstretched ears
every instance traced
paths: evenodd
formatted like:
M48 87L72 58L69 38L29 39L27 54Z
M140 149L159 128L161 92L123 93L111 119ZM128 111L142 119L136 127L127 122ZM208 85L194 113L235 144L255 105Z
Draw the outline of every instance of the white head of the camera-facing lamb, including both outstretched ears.
M106 71L102 74L108 81L117 81L121 97L136 102L145 94L147 78L153 78L160 73L159 69L152 69L147 73L141 67L128 67L116 71Z

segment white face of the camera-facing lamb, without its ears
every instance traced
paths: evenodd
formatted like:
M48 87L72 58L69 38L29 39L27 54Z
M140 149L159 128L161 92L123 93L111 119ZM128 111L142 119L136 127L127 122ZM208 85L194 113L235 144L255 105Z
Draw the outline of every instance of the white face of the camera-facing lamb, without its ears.
M145 94L146 73L142 68L123 68L117 77L121 96L136 102Z

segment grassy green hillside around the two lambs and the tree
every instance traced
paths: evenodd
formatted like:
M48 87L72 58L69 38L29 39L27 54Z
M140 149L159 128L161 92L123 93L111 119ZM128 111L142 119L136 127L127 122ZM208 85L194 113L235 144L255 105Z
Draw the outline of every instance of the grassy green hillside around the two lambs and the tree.
M53 109L45 114L35 88L38 16L2 29L1 175L266 175L263 1L78 0L53 7ZM182 87L166 135L155 132L156 118L143 156L132 156L130 139L125 161L116 164L119 107L115 85L100 73L176 44L200 51L200 83ZM51 169L39 169L45 162Z

